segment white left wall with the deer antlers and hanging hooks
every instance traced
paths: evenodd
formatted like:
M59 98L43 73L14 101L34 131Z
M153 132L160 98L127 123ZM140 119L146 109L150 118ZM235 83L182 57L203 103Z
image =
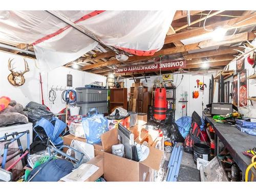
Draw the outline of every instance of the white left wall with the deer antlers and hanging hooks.
M9 58L14 58L15 70L24 70L24 60L22 56L0 51L0 96L8 96L24 106L26 106L30 101L41 103L39 69L35 66L35 60L27 58L30 71L24 75L26 81L23 86L14 87L7 79L7 76L10 74L7 66ZM61 109L65 108L66 104L61 100L61 91L56 91L57 98L54 104L50 103L48 99L49 91L52 86L55 88L56 86L58 86L58 88L61 86L62 88L65 88L65 86L67 86L67 74L72 74L74 88L83 87L85 84L89 84L94 81L103 82L103 86L106 84L106 77L102 75L95 75L65 67L59 67L50 72L42 72L41 77L44 101L53 113L58 113Z

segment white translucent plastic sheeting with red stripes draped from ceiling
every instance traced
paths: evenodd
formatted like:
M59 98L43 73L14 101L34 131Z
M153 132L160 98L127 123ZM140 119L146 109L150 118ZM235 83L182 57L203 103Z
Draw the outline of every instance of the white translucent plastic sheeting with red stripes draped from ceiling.
M153 55L162 48L175 14L175 11L99 11L93 15L95 12L57 11L104 44L135 55ZM45 11L0 11L0 25L0 38L34 43L41 70L65 65L98 44ZM42 40L38 42L39 39Z

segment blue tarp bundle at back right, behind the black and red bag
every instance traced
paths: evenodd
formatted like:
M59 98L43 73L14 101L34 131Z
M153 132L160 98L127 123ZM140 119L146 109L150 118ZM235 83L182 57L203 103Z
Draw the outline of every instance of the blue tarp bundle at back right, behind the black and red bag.
M190 116L184 116L179 118L176 122L176 124L179 126L179 131L182 135L183 138L186 138L186 136L188 135L189 131L190 131L190 127L191 127L191 120L192 118ZM202 131L204 129L204 120L201 118L202 121L202 125L200 126L200 130Z

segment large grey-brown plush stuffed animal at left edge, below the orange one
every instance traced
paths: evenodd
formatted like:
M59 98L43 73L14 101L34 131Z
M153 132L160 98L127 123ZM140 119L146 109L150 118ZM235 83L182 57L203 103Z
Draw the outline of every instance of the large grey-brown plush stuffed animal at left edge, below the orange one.
M8 126L15 123L28 123L28 114L23 111L23 105L14 100L4 110L0 110L0 126ZM0 128L1 129L1 128Z

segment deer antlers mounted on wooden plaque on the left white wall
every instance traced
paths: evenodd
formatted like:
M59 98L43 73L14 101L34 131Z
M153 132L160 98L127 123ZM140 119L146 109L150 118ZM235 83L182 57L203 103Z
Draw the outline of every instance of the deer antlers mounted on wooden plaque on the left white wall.
M20 71L20 73L18 73L18 72L13 71L13 69L15 69L15 68L12 68L12 61L13 61L13 59L9 58L9 60L8 60L8 70L11 72L11 74L8 75L8 81L13 86L22 86L25 83L24 74L26 72L29 72L28 62L24 58L25 70L23 72Z

